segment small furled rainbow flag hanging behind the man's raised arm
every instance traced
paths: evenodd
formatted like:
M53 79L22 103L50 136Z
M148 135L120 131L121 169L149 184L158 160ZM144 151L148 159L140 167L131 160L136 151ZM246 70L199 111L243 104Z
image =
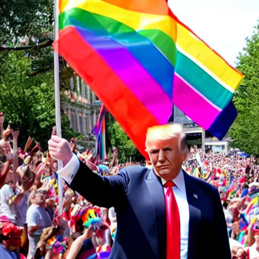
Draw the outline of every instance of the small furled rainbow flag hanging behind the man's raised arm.
M106 154L106 141L105 141L105 114L106 109L102 105L98 121L94 127L94 134L96 136L96 154L99 156L99 159L104 159Z

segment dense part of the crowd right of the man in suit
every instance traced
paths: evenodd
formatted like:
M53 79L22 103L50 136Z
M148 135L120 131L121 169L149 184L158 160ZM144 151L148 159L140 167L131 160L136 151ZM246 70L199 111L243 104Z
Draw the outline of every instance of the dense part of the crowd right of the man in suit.
M191 148L184 169L218 188L233 258L259 258L259 160L239 149L203 153Z

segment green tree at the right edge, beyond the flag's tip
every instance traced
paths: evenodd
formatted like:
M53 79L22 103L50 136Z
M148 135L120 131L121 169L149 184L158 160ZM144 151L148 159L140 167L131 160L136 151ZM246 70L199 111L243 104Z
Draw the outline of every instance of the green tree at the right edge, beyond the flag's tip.
M237 69L245 75L234 96L238 117L230 129L232 147L249 154L259 154L259 24L251 38L246 39L246 47L238 56Z

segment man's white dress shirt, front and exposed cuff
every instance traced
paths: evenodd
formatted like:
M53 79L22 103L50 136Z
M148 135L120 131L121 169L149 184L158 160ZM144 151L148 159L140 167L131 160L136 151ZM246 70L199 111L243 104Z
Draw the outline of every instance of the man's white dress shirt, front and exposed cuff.
M71 184L76 172L80 166L79 160L75 154L71 160L64 166L58 174L68 183ZM161 179L162 184L166 183L166 180ZM181 229L181 259L187 259L188 256L188 235L189 235L189 205L186 196L186 188L184 181L183 170L179 172L179 175L172 181L176 186L172 187L172 191L176 197L176 202L180 214L180 229ZM166 192L166 188L164 188Z

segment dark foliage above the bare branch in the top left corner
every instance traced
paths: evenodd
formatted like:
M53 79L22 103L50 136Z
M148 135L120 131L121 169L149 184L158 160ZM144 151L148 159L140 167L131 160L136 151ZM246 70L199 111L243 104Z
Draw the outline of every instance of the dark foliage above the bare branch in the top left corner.
M1 0L0 44L16 45L26 35L40 41L53 31L53 7L53 0Z

